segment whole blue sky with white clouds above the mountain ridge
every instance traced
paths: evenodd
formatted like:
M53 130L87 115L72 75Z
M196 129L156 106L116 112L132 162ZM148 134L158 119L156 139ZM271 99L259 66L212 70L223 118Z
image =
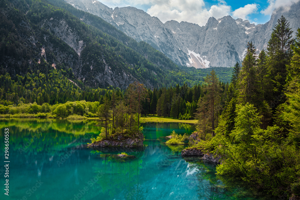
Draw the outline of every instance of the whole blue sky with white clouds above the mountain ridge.
M133 6L156 16L162 22L187 21L200 26L209 17L216 19L226 15L263 24L270 20L272 10L280 6L289 7L299 0L99 0L108 7Z

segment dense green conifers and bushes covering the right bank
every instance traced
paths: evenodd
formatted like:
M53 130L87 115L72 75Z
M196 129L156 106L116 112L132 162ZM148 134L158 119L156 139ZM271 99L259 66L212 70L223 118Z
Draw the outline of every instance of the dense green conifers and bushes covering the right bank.
M241 177L279 198L300 195L300 29L297 31L294 42L282 16L268 52L262 50L257 58L253 44L248 44L240 73L235 70L231 84L220 84L224 92L217 102L222 106L214 137L207 137L211 131L207 119L212 114L207 100L212 97L204 87L197 102L198 136L189 143L221 156L217 174Z

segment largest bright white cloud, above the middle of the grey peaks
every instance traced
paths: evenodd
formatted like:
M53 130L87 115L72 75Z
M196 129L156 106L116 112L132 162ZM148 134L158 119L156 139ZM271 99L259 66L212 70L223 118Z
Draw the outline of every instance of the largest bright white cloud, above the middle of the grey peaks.
M143 0L142 0L143 1ZM154 0L152 0L154 3ZM156 16L163 23L169 20L186 21L205 25L209 17L220 18L229 15L231 7L225 1L219 1L210 9L205 8L203 0L163 0L156 1L147 13Z

